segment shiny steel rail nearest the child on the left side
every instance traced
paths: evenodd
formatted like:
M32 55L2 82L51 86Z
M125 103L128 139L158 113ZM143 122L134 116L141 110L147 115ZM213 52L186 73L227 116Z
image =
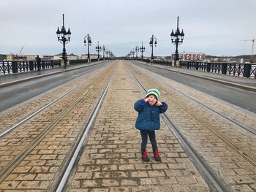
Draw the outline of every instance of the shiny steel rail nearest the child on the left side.
M97 102L96 107L94 107L94 110L91 113L91 117L89 118L88 123L83 128L82 137L80 137L80 139L77 140L76 144L73 147L72 155L69 158L67 168L64 170L63 173L61 173L62 176L61 176L61 180L59 181L58 187L56 189L52 188L52 189L50 189L50 191L57 191L57 192L63 191L64 186L66 185L67 180L69 178L69 174L72 171L72 168L73 168L75 162L78 160L78 155L80 153L81 148L83 147L83 142L84 142L85 139L87 139L89 137L89 133L91 131L92 125L93 125L94 121L97 118L97 114L98 114L98 112L100 110L100 107L102 106L103 100L105 99L105 95L108 92L108 88L110 86L110 83L113 80L113 75L114 74L115 74L115 72L113 72L112 76L108 80L108 83L105 86L105 89L102 92L102 95L100 96L99 101Z

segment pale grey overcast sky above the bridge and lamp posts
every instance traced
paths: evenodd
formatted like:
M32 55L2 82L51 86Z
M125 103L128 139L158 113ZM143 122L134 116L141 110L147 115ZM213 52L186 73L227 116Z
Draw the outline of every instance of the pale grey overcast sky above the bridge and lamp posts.
M56 29L72 32L67 53L87 53L83 37L91 36L91 53L105 45L116 56L127 55L141 42L151 55L149 39L157 37L154 55L175 52L170 32L184 30L179 52L207 55L251 54L256 38L255 0L1 0L0 53L55 55L62 52Z

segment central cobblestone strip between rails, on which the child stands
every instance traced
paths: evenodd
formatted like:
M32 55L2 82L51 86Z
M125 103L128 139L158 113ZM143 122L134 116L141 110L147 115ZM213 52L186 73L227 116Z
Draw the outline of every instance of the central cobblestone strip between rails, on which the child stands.
M144 163L133 104L145 96L129 74L127 63L116 75L99 112L72 179L70 191L209 191L178 140L162 122L157 131L162 163ZM69 191L67 190L67 191Z

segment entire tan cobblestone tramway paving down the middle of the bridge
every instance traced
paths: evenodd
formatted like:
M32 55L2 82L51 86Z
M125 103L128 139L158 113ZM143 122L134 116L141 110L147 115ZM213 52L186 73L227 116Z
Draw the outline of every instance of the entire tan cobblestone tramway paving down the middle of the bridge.
M99 69L98 76L86 82L79 91L64 97L26 125L0 138L1 173L1 169L10 164L40 132L49 128L50 122L60 119L18 166L2 182L0 180L1 192L53 191L53 185L61 177L61 169L67 163L70 150L113 69L116 69L113 81L91 135L84 142L80 159L69 177L65 191L210 191L195 168L195 162L187 156L178 139L162 120L161 129L156 132L162 162L154 161L150 143L148 151L151 161L146 163L141 160L141 139L140 132L135 129L137 112L133 109L133 104L142 99L145 93L132 76L133 73L146 88L160 89L160 100L169 105L166 114L174 120L182 134L228 185L230 191L256 191L256 168L253 164L256 159L255 136L206 110L170 86L210 104L210 107L229 114L230 118L237 118L251 128L255 128L255 114L131 65L127 61L113 61ZM83 79L56 88L53 93L48 91L37 99L45 98L46 104L53 100L51 96L56 98L97 72L86 74ZM77 100L79 104L70 108L70 104ZM24 111L28 115L40 107L33 100L25 104L29 102L34 104L34 108L27 110L26 105L18 106L20 109L23 107L23 110L13 108L4 115L17 115L16 122L21 119L19 113ZM63 118L61 115L64 115ZM12 122L7 121L4 125L10 126ZM252 162L245 158L246 155L252 158Z

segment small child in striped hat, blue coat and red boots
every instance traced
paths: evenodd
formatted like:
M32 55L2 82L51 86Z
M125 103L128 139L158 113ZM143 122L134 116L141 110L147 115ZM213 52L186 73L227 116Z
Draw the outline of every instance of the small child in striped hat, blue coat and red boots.
M140 130L141 134L141 155L143 161L148 162L149 158L146 152L148 137L150 139L154 158L156 161L161 161L159 157L155 130L160 128L159 114L166 112L167 104L159 101L160 92L157 88L149 89L145 99L140 99L135 102L134 108L138 112L138 118L135 127Z

